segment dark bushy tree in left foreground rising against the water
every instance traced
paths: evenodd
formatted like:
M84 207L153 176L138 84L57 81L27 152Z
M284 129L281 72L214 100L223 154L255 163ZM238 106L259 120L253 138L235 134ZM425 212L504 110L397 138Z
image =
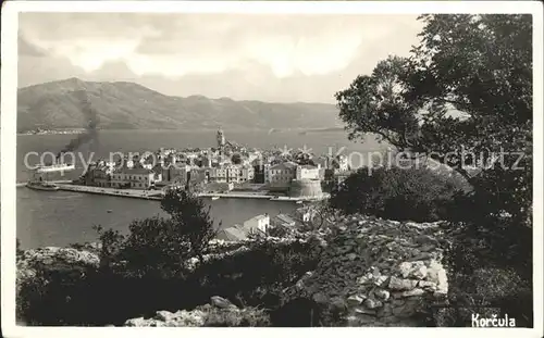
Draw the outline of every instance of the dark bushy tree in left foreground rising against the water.
M111 267L120 262L136 276L168 277L187 267L187 260L203 254L217 235L217 225L193 190L170 189L161 201L169 217L135 220L123 236L112 229L96 229L101 242L101 264Z

